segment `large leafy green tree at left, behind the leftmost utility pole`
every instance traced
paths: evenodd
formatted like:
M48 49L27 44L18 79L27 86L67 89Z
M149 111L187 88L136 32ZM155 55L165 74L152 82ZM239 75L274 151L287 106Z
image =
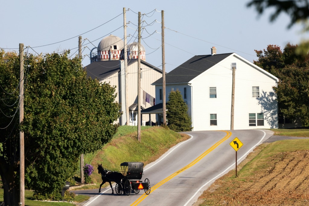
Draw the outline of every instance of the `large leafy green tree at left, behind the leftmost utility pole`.
M80 154L101 149L119 126L115 88L87 78L80 59L68 54L25 56L19 125L19 57L1 51L0 175L8 205L19 200L19 128L25 139L25 187L57 196L78 168Z

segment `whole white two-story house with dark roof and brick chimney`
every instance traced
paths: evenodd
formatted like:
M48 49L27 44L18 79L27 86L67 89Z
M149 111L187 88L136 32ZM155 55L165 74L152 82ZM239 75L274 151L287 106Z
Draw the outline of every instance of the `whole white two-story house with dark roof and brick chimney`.
M215 53L213 47L212 54L194 56L167 73L166 101L170 91L181 92L192 118L193 131L230 130L231 66L236 65L234 129L278 128L273 91L278 78L238 54ZM156 103L162 103L162 78L152 85L156 87ZM162 114L157 112L157 119L162 122Z

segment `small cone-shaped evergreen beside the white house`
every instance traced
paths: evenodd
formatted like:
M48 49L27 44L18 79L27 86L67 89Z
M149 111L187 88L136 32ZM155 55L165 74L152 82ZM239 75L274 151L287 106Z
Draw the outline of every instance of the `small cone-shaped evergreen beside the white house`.
M176 132L191 131L192 122L188 115L188 105L182 99L179 90L171 91L166 104L167 126Z

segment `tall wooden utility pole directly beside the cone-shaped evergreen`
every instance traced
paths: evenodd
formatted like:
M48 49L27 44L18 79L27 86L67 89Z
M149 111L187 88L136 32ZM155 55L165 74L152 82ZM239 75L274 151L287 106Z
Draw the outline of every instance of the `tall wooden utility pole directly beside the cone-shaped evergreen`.
M163 101L163 125L166 125L166 97L165 97L165 48L164 48L164 11L162 15L162 101Z

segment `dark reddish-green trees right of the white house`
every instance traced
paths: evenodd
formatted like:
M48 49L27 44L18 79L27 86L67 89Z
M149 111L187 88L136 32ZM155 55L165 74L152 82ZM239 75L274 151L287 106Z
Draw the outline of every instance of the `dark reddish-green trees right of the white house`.
M253 63L279 78L274 90L278 108L285 117L300 118L303 126L309 126L309 55L299 56L298 45L288 43L283 51L277 45L268 45L264 51L256 50Z

